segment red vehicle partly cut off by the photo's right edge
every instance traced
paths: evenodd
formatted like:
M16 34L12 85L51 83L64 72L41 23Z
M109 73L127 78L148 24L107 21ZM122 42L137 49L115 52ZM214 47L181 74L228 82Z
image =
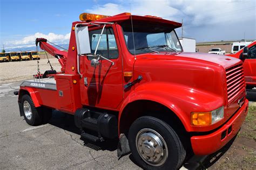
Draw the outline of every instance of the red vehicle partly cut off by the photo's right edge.
M246 88L251 90L256 87L256 41L240 49L235 54L227 55L243 61Z

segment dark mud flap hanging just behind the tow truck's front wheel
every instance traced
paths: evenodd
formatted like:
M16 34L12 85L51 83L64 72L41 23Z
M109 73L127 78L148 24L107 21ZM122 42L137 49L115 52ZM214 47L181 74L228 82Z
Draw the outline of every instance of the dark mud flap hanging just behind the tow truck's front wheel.
M128 139L126 138L124 133L120 134L119 143L117 146L117 157L118 160L123 156L129 154L131 152Z

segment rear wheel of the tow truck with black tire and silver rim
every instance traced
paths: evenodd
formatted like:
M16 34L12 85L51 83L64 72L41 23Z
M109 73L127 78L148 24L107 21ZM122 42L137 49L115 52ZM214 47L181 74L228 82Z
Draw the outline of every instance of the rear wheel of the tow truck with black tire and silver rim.
M26 123L31 126L41 125L43 120L42 108L35 108L35 105L29 95L22 96L21 104L22 115L24 116ZM24 110L24 108L28 109Z

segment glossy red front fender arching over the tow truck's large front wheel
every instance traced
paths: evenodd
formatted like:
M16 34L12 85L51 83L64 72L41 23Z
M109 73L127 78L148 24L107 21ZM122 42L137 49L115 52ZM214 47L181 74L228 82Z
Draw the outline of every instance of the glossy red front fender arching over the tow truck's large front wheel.
M119 123L127 104L137 100L150 100L165 105L178 116L188 132L210 131L223 123L220 121L210 126L201 127L192 126L190 123L191 112L207 112L217 109L223 106L223 97L208 91L164 82L144 83L135 88L122 103L118 116Z

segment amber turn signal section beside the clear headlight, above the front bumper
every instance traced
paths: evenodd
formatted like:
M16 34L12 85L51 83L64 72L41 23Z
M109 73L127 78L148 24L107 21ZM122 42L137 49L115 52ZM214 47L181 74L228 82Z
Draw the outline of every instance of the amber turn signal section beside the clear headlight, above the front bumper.
M192 112L191 113L192 125L211 125L212 124L212 112Z

